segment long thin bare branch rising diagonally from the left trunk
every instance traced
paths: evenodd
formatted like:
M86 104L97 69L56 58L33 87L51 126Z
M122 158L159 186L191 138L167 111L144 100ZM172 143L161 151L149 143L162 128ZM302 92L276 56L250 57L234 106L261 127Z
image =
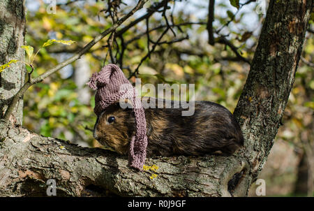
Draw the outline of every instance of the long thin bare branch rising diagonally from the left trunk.
M128 17L132 16L137 10L140 10L140 8L142 8L144 3L146 3L147 1L148 0L139 0L137 2L137 5L132 10L130 10L130 12L128 14L124 15L124 17L121 17L121 19L118 20L117 23L113 24L112 27L110 27L109 29L106 29L101 34L96 36L94 38L94 40L92 40L87 45L85 45L85 47L82 48L82 50L80 50L80 52L77 52L77 54L74 54L73 57L70 57L66 61L61 62L57 66L54 66L54 68L51 68L50 70L46 71L45 73L39 75L37 78L34 78L31 81L27 81L22 86L22 88L17 92L17 94L15 94L15 96L13 97L13 100L11 101L10 105L8 106L8 109L6 110L6 113L4 114L3 119L8 120L10 118L10 115L12 114L14 108L16 107L17 102L19 101L19 99L22 98L24 92L26 92L27 89L29 89L29 87L31 87L31 85L43 81L45 78L50 76L52 73L59 71L64 66L67 66L68 64L72 63L73 61L80 59L80 57L83 54L85 54L86 52L88 52L91 47L93 47L101 39L103 39L105 36L107 36L107 34L110 34L112 31L117 29L117 27L119 27L123 22L125 22L128 19Z

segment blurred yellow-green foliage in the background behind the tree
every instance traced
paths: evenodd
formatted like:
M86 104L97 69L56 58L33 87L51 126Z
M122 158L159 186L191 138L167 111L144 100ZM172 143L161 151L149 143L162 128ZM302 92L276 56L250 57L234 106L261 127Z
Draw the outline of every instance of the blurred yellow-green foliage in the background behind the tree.
M40 50L33 75L82 49L135 2L57 1L56 13L50 14L49 1L27 0L26 45L33 46L34 52L48 39L75 41L73 45L54 44ZM92 136L94 92L85 83L109 63L119 64L131 82L136 77L142 84L195 84L195 100L214 101L233 112L250 68L243 58L253 59L265 17L257 11L258 2L240 1L238 10L229 1L216 0L215 38L219 35L230 41L240 56L225 43L209 45L208 1L169 1L166 9L158 8L149 18L123 31L158 2L149 1L81 59L33 85L24 96L24 126L43 136L100 147ZM312 18L283 126L260 175L266 180L267 196L313 194L313 58ZM256 196L254 185L250 196Z

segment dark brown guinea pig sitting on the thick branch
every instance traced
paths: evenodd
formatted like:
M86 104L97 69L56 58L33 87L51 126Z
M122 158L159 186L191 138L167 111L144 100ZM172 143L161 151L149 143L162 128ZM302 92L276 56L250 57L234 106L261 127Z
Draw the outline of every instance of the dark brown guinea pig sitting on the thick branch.
M149 101L157 99L149 98ZM162 100L164 101L164 100ZM164 101L165 102L165 101ZM169 101L168 101L169 102ZM231 155L244 138L239 124L227 108L210 101L195 101L194 114L182 116L184 108L146 108L147 157L221 154ZM156 103L157 105L157 103ZM102 112L94 126L94 138L110 150L128 154L130 138L135 134L132 108L119 102Z

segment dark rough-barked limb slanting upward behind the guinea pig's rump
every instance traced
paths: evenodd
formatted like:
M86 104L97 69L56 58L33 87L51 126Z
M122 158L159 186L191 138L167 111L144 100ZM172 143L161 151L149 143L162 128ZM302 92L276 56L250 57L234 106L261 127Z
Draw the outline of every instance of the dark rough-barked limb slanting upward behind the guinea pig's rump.
M253 181L281 126L297 71L313 1L270 1L246 85L234 115L244 132ZM250 153L246 153L250 152Z

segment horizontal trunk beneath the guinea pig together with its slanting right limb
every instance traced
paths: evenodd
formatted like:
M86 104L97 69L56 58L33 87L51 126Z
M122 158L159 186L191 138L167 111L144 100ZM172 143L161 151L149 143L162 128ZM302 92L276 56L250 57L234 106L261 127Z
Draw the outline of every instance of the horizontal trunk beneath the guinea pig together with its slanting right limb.
M3 2L0 0L0 3ZM1 5L1 4L0 4ZM154 157L137 172L127 158L45 138L0 122L0 196L247 196L281 125L297 71L313 1L271 0L246 85L234 115L245 145L230 157ZM23 69L20 68L23 72Z

